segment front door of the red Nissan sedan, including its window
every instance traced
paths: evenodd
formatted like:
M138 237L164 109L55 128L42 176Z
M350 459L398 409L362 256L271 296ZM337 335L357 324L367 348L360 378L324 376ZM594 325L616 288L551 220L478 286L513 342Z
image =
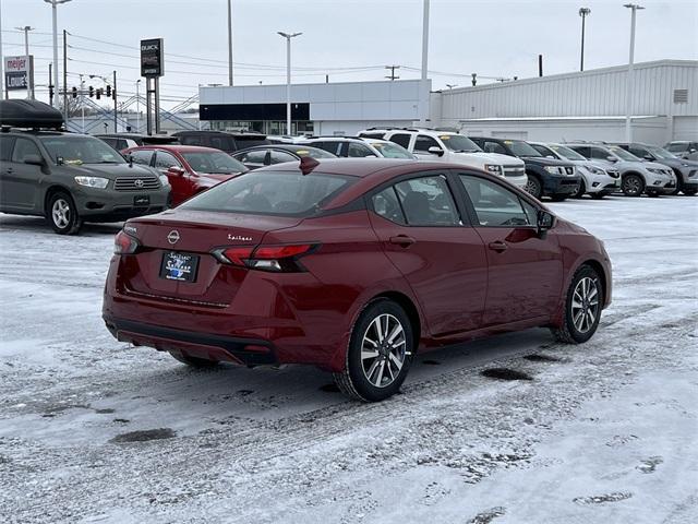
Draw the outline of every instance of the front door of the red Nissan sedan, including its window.
M483 326L550 317L563 285L557 237L538 234L538 207L503 183L456 171L488 253Z

